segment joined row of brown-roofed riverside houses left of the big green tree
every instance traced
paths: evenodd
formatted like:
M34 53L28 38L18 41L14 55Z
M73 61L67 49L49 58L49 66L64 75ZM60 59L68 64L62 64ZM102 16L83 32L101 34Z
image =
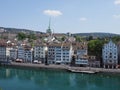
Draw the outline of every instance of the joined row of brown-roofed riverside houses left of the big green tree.
M76 48L77 47L77 48ZM25 45L9 45L0 43L0 60L22 60L33 62L34 60L48 64L70 64L72 56L77 54L78 61L82 56L87 56L86 43L48 43L38 44L33 48ZM79 64L79 62L76 64ZM86 63L87 64L87 63Z

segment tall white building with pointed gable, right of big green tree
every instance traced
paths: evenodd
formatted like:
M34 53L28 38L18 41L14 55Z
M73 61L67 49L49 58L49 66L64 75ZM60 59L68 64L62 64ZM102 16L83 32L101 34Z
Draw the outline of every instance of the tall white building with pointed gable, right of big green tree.
M118 49L111 40L103 46L102 59L104 68L116 68L118 65Z

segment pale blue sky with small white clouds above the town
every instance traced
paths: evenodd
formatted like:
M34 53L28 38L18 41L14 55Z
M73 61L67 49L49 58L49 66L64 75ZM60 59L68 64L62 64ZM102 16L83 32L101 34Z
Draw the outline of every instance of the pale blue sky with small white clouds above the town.
M120 34L120 0L0 0L0 27Z

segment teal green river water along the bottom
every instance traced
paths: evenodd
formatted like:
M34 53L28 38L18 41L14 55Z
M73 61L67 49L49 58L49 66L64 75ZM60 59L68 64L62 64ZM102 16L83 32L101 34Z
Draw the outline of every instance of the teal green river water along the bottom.
M0 67L2 90L120 90L120 75Z

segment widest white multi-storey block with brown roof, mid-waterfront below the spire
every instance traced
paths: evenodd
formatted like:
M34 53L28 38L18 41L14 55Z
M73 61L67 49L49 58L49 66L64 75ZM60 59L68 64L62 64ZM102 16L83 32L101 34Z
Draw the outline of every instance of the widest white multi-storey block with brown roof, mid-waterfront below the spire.
M70 64L73 55L70 43L54 43L48 45L48 62L55 64Z

